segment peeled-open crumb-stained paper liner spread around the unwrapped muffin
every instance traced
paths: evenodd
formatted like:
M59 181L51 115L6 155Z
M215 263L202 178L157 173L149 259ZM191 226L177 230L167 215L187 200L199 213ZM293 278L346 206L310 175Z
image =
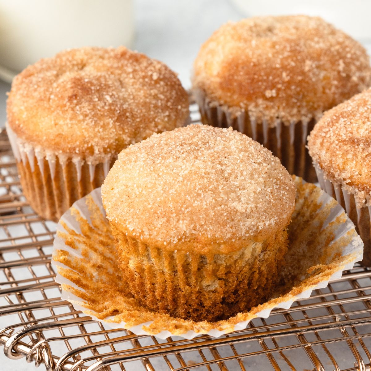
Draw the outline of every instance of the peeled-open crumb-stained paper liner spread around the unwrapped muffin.
M363 244L339 204L313 184L295 177L295 211L289 225L289 249L280 272L282 284L272 299L223 321L191 321L152 311L138 302L121 280L114 239L95 189L61 218L54 242L53 265L62 298L97 321L137 335L171 335L191 339L200 334L221 336L246 328L273 308L289 308L312 290L324 288L362 259Z

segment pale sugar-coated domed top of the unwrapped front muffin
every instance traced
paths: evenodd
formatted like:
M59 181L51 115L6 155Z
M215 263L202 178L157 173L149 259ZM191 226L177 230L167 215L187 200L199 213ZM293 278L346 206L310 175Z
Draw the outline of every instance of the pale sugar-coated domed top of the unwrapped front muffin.
M272 152L232 129L189 125L119 154L102 186L111 223L152 246L221 251L285 228L295 184Z

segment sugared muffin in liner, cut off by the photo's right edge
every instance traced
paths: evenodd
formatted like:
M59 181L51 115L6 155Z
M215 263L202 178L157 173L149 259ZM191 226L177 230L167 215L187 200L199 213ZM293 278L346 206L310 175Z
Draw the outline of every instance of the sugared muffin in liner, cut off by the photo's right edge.
M323 190L347 211L371 266L371 89L324 114L308 137Z

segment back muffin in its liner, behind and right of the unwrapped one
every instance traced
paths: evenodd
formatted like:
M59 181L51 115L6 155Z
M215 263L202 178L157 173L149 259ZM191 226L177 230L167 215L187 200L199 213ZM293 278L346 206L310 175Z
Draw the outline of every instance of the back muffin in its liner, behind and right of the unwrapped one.
M365 49L321 18L256 17L224 24L204 43L193 89L204 124L232 126L314 182L307 134L370 76Z

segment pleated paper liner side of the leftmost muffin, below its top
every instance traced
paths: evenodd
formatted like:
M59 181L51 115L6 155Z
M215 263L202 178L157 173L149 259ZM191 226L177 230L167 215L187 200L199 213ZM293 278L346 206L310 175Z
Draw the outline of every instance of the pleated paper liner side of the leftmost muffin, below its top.
M73 158L24 145L6 124L6 131L17 163L24 196L44 219L58 221L81 197L100 187L117 156L88 164Z

